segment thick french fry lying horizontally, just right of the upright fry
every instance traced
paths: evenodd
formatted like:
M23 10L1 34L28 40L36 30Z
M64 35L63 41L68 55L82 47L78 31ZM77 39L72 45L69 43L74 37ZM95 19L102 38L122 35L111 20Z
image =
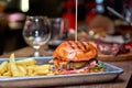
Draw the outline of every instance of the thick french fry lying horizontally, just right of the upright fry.
M25 58L25 59L21 59L21 61L16 61L16 65L35 65L36 61L34 58Z

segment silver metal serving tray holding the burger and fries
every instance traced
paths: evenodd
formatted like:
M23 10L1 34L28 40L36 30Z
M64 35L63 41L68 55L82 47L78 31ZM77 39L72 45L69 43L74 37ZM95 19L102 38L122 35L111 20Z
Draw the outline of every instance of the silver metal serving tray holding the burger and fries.
M23 59L19 57L16 59ZM52 56L35 57L37 64L45 64L52 59ZM8 58L0 58L0 63ZM74 74L74 75L54 75L54 76L35 76L35 77L8 77L0 78L0 87L50 87L62 85L90 84L110 81L119 77L123 73L122 68L105 63L105 72Z

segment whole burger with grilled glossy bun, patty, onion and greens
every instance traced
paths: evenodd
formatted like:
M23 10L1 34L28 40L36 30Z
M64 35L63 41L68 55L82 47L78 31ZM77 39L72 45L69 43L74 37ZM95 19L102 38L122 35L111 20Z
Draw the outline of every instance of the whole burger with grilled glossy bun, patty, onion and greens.
M99 73L103 63L97 61L97 48L88 42L65 41L53 53L56 75Z

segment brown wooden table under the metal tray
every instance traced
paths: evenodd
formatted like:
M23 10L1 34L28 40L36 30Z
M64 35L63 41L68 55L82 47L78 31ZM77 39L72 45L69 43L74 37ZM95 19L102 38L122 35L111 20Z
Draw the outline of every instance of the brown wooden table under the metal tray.
M41 54L48 56L52 55L52 53L45 52L46 47L40 50ZM33 53L33 48L31 47L24 47L18 51L13 51L11 53L15 54L15 57L26 57ZM0 57L9 57L11 53L3 54ZM85 84L85 85L73 85L73 86L63 86L63 88L127 88L127 85L129 82L129 79L132 74L132 61L124 61L124 62L107 62L109 64L116 65L120 68L124 69L124 73L119 76L118 79L114 81L109 82L100 82L100 84ZM56 87L55 87L56 88ZM62 87L57 87L62 88Z

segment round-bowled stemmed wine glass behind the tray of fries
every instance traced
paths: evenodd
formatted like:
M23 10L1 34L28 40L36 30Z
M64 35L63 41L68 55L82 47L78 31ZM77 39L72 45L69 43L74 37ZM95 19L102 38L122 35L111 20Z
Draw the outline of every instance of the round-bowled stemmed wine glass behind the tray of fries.
M38 50L51 38L48 19L41 15L28 15L23 29L23 37L35 50L33 56L41 56Z

